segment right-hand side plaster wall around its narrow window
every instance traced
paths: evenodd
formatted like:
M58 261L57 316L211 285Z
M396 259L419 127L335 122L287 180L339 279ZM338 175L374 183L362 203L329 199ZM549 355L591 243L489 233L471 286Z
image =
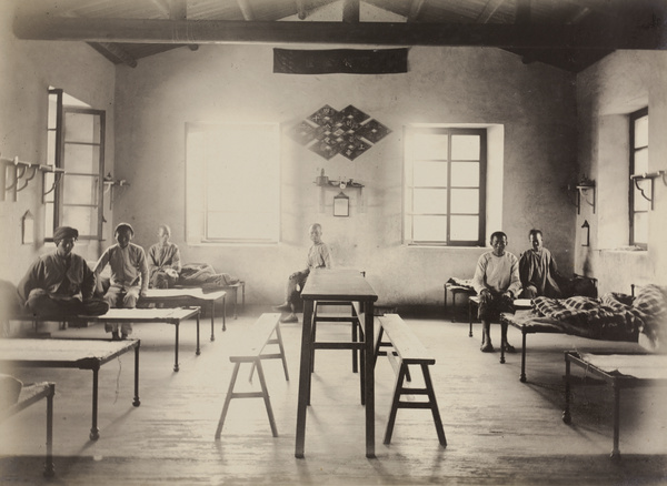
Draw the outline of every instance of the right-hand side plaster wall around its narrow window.
M591 245L577 246L576 269L599 280L600 292L667 283L666 184L656 180L648 251L628 251L628 114L649 109L649 171L667 170L667 52L617 51L577 77L579 163L597 182Z

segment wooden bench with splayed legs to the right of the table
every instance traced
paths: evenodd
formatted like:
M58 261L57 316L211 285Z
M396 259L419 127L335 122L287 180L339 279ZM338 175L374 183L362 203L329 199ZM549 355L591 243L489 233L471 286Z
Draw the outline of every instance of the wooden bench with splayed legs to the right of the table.
M382 336L386 334L394 347L394 351L386 352L386 355L392 363L395 371L398 368L398 376L394 388L394 398L391 401L391 411L389 412L387 431L385 432L385 444L391 442L396 413L399 408L430 408L434 415L438 439L440 441L440 445L446 447L447 438L445 437L445 431L442 429L442 421L440 419L440 412L438 409L434 384L428 368L429 365L436 363L436 358L432 357L426 347L424 347L424 344L421 344L412 330L410 330L398 314L386 314L385 316L378 317L378 320L380 321L380 331L378 335L378 345L376 345L376 353L379 351L379 347L381 347L380 343L387 345L387 343L382 342ZM408 371L409 365L420 366L424 375L424 388L404 386L405 381L410 381ZM402 395L426 395L428 399L426 402L401 402Z

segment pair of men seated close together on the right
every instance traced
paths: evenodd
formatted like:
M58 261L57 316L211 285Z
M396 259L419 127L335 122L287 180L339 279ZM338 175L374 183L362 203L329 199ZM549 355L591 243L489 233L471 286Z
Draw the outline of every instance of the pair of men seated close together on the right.
M539 295L558 298L563 292L551 252L542 246L540 230L528 233L531 247L517 259L506 252L507 235L497 231L491 234L490 252L484 253L477 261L472 287L479 295L478 318L482 325L481 352L494 351L491 344L491 322L498 320L501 312L514 312L514 300L535 298ZM502 326L501 342L506 352L514 353L515 347L507 342L507 327Z

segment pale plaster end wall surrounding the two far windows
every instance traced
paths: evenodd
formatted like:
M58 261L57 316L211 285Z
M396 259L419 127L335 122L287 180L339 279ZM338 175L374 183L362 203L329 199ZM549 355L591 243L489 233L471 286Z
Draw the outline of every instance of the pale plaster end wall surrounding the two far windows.
M401 245L402 128L495 123L505 133L501 211L509 251L525 250L528 230L541 227L564 271L571 271L576 211L563 188L576 172L574 75L522 64L497 49L411 48L408 62L406 74L273 74L271 47L202 45L142 59L136 69L119 67L115 175L131 186L117 201L115 223L132 223L143 246L159 222L169 223L185 261L238 275L248 282L249 302L270 303L281 300L286 276L302 265L307 227L318 221L336 263L366 270L380 302L438 304L444 282L471 276L485 249ZM354 104L392 133L354 162L326 161L285 135L281 243L188 246L185 124L279 122L288 130L325 104ZM349 219L335 219L329 205L319 212L312 182L322 168L330 178L366 184L362 212L351 191Z

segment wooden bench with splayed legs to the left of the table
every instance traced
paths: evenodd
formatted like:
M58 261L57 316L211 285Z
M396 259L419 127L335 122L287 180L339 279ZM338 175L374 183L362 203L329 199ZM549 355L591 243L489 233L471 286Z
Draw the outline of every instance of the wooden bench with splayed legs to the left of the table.
M222 406L222 413L220 414L220 421L218 422L218 429L216 431L217 439L220 438L220 434L222 433L225 417L227 416L229 403L232 398L263 398L267 414L269 415L271 433L273 434L273 437L278 437L278 429L276 428L276 421L273 419L273 411L271 409L271 401L269 399L269 392L267 389L261 361L280 358L282 361L282 368L285 369L285 379L289 381L287 360L285 358L285 347L282 346L282 336L280 335L280 313L265 313L260 315L257 322L247 332L248 340L229 356L229 361L235 363L235 366L231 373L227 397L225 398L225 405ZM273 335L275 337L272 337ZM277 344L279 352L270 354L262 353L263 348L269 344ZM250 379L252 379L252 373L255 372L255 368L257 368L261 392L233 391L241 363L252 364Z

